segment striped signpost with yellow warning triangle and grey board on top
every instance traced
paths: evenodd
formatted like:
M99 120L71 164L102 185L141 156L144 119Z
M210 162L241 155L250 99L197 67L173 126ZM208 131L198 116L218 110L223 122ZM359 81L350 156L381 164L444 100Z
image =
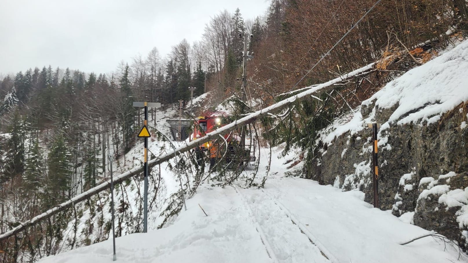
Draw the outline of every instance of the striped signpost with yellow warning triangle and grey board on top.
M145 150L144 150L144 178L145 187L143 194L143 233L148 231L148 138L151 137L148 131L148 107L160 108L161 103L159 102L133 102L133 107L144 107L145 108L145 120L143 121L143 127L138 133L139 138L145 138Z

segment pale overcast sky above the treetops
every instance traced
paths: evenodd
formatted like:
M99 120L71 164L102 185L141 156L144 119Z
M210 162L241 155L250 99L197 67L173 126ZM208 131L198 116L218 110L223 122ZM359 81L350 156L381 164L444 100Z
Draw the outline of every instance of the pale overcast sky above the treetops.
M109 73L155 46L164 56L199 40L210 16L239 7L263 15L269 0L0 0L0 73L35 66Z

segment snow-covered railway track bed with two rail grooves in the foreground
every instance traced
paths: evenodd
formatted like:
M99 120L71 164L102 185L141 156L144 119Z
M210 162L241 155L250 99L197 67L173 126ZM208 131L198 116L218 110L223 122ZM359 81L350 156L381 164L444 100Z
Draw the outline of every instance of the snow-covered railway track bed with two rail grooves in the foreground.
M457 262L457 250L432 238L399 245L430 232L372 208L360 191L283 177L278 156L276 149L265 189L205 184L172 224L117 238L117 262ZM40 262L112 262L112 241Z

